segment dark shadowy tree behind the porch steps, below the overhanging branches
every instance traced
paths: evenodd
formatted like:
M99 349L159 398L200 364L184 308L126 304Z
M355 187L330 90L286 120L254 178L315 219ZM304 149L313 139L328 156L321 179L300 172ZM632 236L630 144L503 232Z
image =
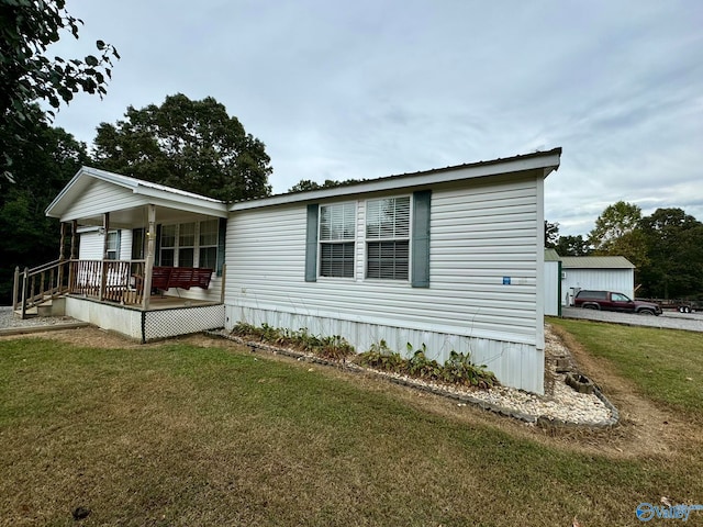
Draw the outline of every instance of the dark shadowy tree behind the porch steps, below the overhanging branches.
M33 113L31 113L33 112ZM86 145L42 121L38 106L27 112L33 141L18 142L8 154L15 159L16 183L0 192L0 304L11 300L15 267L35 267L58 258L58 221L44 211L78 169L88 162ZM11 133L19 133L12 130Z

